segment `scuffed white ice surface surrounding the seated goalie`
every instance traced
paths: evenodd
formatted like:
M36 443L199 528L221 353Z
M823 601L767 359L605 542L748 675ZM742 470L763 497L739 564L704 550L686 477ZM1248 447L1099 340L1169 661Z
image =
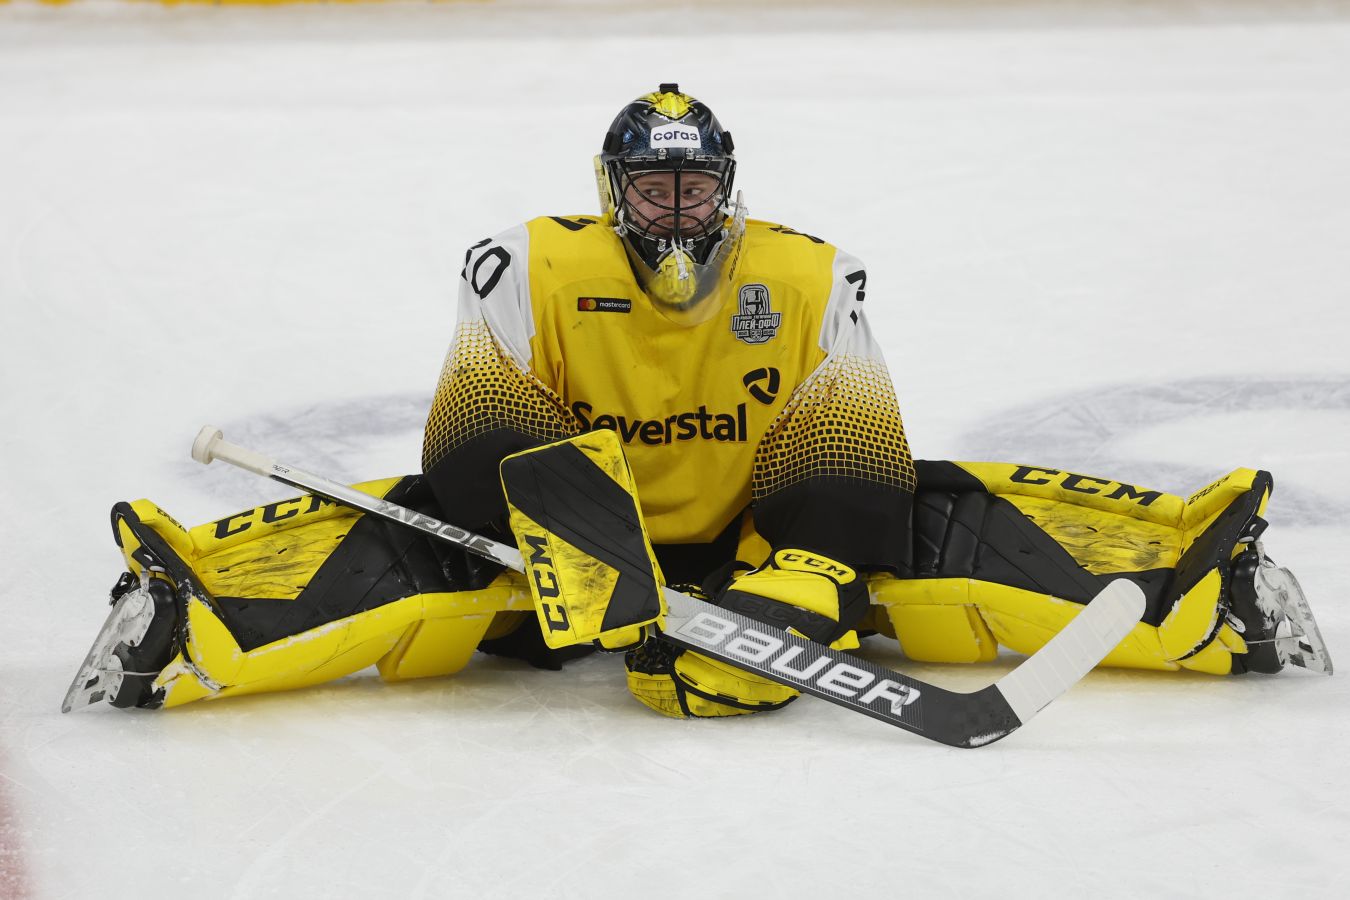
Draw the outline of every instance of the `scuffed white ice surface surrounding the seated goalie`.
M282 495L189 461L205 421L413 471L463 248L593 210L610 116L671 80L753 215L868 262L918 456L1268 467L1268 548L1350 664L1346 7L788 5L0 5L0 896L1343 887L1346 675L1095 672L976 752L810 699L666 721L612 657L58 714L108 507Z

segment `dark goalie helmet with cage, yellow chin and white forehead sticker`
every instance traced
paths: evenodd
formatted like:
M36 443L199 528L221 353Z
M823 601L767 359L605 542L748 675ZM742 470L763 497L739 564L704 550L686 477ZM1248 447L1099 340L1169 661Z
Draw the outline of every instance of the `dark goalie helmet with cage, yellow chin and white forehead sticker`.
M705 321L703 302L734 275L745 209L730 132L702 103L663 84L624 107L595 158L602 212L660 312Z

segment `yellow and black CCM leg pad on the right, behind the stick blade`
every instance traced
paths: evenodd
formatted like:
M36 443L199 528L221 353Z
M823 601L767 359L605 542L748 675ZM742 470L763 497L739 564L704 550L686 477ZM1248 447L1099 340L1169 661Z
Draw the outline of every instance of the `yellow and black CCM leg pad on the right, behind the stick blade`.
M1224 618L1228 564L1265 513L1266 472L1239 468L1187 498L1010 463L919 472L915 546L936 549L918 551L915 578L869 584L883 611L869 625L911 658L1034 653L1106 576L1135 580L1149 609L1103 665L1224 675L1246 652Z

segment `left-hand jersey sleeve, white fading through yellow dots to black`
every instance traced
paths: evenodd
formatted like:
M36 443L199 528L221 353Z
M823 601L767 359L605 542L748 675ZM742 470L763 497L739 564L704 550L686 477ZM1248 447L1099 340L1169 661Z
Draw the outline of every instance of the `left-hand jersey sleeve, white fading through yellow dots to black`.
M474 244L459 282L455 336L423 434L423 472L446 517L505 522L497 467L517 451L579 433L532 367L535 317L524 225Z

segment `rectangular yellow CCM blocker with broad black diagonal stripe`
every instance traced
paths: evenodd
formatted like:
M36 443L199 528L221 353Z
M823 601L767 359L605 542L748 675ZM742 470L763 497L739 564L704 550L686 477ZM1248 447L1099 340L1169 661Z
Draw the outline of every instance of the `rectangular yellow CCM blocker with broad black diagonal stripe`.
M501 478L549 648L662 617L660 567L614 432L508 456Z

